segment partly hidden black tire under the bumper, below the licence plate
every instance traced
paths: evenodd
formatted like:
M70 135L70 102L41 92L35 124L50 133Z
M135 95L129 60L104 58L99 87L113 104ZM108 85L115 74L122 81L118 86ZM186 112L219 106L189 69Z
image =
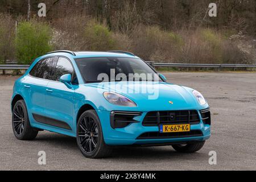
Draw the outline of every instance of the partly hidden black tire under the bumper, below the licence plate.
M177 152L193 153L203 148L204 143L205 141L191 142L191 143L187 143L185 146L176 144L176 145L172 145L172 148L174 148L174 150L176 150Z

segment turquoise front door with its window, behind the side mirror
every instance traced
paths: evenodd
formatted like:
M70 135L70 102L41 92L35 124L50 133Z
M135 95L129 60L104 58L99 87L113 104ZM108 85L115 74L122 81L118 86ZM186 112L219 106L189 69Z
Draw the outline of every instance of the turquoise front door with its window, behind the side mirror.
M46 114L49 125L75 131L76 127L73 126L75 91L59 81L65 74L75 75L72 63L66 57L59 57L46 89Z

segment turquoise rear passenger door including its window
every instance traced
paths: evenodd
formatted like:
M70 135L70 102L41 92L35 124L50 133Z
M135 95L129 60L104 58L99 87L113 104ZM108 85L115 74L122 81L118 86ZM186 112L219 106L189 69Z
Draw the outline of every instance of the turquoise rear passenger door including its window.
M55 57L48 57L40 60L23 82L25 92L30 99L26 101L31 122L38 121L38 116L45 115L46 87L51 76L52 68L55 65ZM32 119L34 118L34 119Z

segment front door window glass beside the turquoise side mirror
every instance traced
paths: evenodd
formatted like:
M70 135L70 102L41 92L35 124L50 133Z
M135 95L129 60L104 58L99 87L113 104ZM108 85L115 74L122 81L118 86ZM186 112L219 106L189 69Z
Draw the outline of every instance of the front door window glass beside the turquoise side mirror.
M73 76L73 72L74 70L70 61L65 57L59 57L59 60L56 64L56 68L52 75L52 80L59 81L60 77L65 74L71 74Z

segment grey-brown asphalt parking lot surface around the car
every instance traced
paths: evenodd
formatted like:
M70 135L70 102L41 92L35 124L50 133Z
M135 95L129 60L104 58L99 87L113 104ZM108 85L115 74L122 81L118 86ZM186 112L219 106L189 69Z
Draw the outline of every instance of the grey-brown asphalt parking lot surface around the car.
M195 154L172 147L120 147L108 159L86 159L76 139L42 131L16 140L11 129L13 76L0 76L0 170L256 170L256 73L164 73L169 82L199 90L212 111L212 137ZM38 152L46 151L46 165ZM209 151L217 152L210 165Z

